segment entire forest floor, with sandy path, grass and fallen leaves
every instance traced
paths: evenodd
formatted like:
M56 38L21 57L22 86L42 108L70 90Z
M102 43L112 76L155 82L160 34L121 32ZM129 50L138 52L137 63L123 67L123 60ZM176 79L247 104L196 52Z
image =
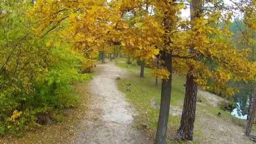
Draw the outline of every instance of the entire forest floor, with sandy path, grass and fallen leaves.
M120 58L98 64L93 80L75 84L76 93L80 94L79 107L61 114L65 116L63 121L28 132L21 139L4 136L0 144L152 144L157 128L160 84L154 85L155 77L149 68L145 68L144 78L139 77L139 69ZM117 77L120 80L116 80ZM167 132L170 143L179 143L174 138L182 112L184 80L182 76L173 75ZM197 103L193 143L253 143L243 135L246 121L217 107L224 99L202 90L198 97L202 102ZM221 117L217 117L218 112Z

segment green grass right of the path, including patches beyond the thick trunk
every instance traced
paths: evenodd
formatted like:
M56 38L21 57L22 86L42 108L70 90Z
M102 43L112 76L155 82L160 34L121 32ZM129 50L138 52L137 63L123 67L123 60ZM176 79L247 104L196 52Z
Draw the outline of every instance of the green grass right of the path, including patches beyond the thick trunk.
M160 104L161 85L160 83L158 85L154 85L155 77L151 75L151 69L145 68L145 77L141 78L139 77L140 67L126 64L125 59L123 58L116 58L114 61L117 67L126 69L130 73L129 78L117 80L117 85L120 91L125 93L128 101L130 101L139 112L139 115L134 117L136 128L141 129L141 124L147 124L148 128L146 133L153 141L157 128L159 109L152 108L150 100L155 99L156 104ZM161 82L160 80L158 81ZM171 106L182 109L185 93L185 88L183 87L184 83L185 77L173 74ZM131 91L127 91L127 87L130 87ZM202 143L200 139L205 139L205 135L202 130L204 129L204 126L207 126L207 124L203 124L202 120L200 120L201 118L205 117L207 120L216 120L218 123L222 123L222 120L231 121L233 119L235 123L237 123L236 125L244 124L244 120L240 120L230 115L229 112L224 112L220 108L213 107L208 104L203 96L198 95L198 98L204 101L204 104L197 104L197 117L195 120L197 128L194 129L194 137L197 139L193 141L193 143ZM218 112L221 112L221 118L216 117ZM170 143L179 143L179 141L174 139L176 130L179 128L179 123L180 117L169 115L167 136Z

